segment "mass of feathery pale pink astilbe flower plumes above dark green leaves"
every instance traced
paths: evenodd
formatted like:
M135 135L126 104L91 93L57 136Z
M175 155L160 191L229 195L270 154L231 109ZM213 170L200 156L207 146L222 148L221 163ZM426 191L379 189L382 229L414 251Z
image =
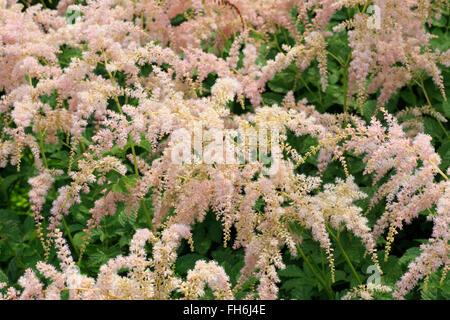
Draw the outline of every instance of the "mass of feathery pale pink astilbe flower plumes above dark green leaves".
M443 2L90 0L83 5L61 1L57 10L4 3L0 166L21 170L22 157L31 154L35 174L28 180L28 196L45 255L35 271L29 268L19 279L23 289L2 284L1 298L59 299L68 292L70 299L196 299L207 285L215 298L232 299L256 278L255 290L246 297L276 299L285 255L301 255L313 270L299 230L310 232L325 252L332 283L333 242L358 278L340 233L356 236L382 274L377 249L382 249L384 232L388 259L398 230L433 209L432 237L396 286L360 283L344 298L370 299L377 291L402 298L438 268L445 279L449 172L439 168L441 158L420 117L446 119L431 105L397 117L385 109L390 97L422 70L446 99L440 67L450 65L449 52L431 49L433 36L425 27L440 14ZM368 13L369 5L381 10L379 21ZM346 8L354 10L353 17L332 27L332 17ZM64 15L67 9L79 13L76 19ZM280 27L293 42L262 63L267 42ZM328 39L340 33L346 33L352 49L347 61L327 48ZM76 54L63 62L61 50L67 48ZM281 103L264 102L268 82L292 66L301 74L317 64L326 94L331 55L347 77L344 113L319 112L292 91ZM208 89L211 75L216 79ZM374 93L377 106L369 122L362 112L350 112L350 105L362 110ZM252 112L231 112L230 105ZM408 113L415 121L402 123ZM200 145L189 142L194 158L173 161L195 130L203 140ZM236 152L247 161L196 162L196 152L215 145L215 138L208 137L211 130L225 133L225 155L230 154L227 146L237 145ZM281 157L275 172L261 157L251 161L251 139L237 142L236 137L252 130L273 134L265 144L273 158ZM313 137L317 144L301 155L292 137ZM61 144L70 157L64 168L52 168L46 147ZM349 154L362 156L363 175L371 177L374 188L378 184L370 197L349 173ZM315 156L317 170L298 170ZM330 182L323 174L333 161L342 166L345 178ZM50 192L55 197L46 206ZM87 197L94 197L93 206L87 210L83 244L75 246L65 218ZM385 203L376 221L369 221L357 205L368 197L367 211ZM80 261L93 233L123 204L129 216L145 215L147 229L136 230L128 255L111 258L96 277L82 274ZM237 283L215 261L198 260L185 279L174 271L182 241L195 245L192 228L210 211L222 225L224 246L245 252ZM78 262L62 228L79 251ZM48 262L52 250L59 266ZM314 275L330 294L325 275Z

